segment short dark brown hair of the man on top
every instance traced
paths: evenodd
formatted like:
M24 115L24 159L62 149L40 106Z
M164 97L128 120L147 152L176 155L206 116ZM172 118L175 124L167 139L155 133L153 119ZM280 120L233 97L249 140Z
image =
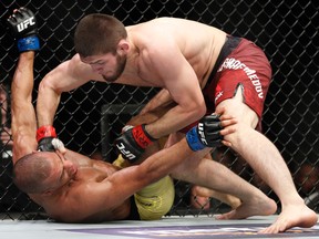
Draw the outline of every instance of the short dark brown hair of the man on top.
M115 53L120 40L126 39L124 24L109 14L93 13L80 20L74 33L75 51L83 58Z

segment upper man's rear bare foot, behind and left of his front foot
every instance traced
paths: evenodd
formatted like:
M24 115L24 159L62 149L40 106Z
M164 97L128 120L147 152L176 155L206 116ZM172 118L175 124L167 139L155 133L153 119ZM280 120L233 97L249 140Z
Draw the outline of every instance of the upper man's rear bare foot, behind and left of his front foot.
M277 204L268 198L258 198L250 201L244 201L236 209L215 216L218 220L227 219L245 219L253 216L269 216L275 214L277 210Z

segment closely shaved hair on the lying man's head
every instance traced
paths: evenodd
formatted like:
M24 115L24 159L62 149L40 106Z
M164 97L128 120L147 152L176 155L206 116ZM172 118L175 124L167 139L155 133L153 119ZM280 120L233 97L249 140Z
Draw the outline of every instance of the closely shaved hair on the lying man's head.
M13 166L13 183L25 194L44 193L44 180L51 174L51 164L41 153L28 154Z

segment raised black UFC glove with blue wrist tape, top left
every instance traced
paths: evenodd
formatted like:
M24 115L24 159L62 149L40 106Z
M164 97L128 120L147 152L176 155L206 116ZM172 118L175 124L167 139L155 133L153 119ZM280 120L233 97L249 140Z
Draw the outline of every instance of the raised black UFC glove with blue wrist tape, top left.
M16 10L8 18L8 24L17 40L19 52L38 51L40 49L38 23L31 10L27 8Z

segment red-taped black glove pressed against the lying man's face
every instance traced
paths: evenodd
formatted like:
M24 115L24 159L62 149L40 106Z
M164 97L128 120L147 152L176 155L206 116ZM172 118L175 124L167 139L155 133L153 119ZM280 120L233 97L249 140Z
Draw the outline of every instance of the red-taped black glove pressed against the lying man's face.
M38 150L41 152L54 152L56 146L52 144L52 141L56 138L55 128L51 125L41 126L37 131Z

